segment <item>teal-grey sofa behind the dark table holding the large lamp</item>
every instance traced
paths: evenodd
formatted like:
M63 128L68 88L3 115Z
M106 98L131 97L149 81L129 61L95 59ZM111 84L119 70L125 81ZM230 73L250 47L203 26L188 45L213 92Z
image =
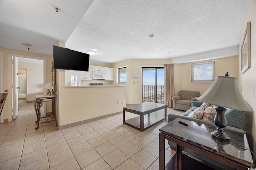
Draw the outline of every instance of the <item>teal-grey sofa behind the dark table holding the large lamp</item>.
M200 101L193 101L192 102L192 107L190 109L188 109L185 113L183 113L182 115L176 115L176 114L168 114L168 123L173 121L176 118L181 118L181 119L186 119L189 121L194 121L196 122L198 125L200 125L201 123L204 123L206 125L213 125L216 127L216 125L214 124L214 122L212 121L204 121L202 119L197 119L194 117L189 117L190 113L192 113L194 110L196 110L198 107L201 107L203 104L203 102ZM229 109L226 108L226 119L227 119L227 126L224 129L228 129L231 131L235 131L238 133L242 133L245 134L244 131L244 120L245 120L245 112L244 111L238 111L238 110L234 110L234 109ZM189 116L188 116L189 115ZM216 127L217 128L217 127ZM170 141L168 141L170 147L172 149L175 149L176 144L172 143ZM212 160L208 157L202 156L201 154L198 154L192 150L186 149L184 147L182 147L182 152L184 152L185 154L190 154L190 156L193 156L195 158L199 158L200 160L209 162L210 164L213 164L214 166L217 166L219 168L225 169L225 170L233 170L233 168L230 168L220 162L217 162L215 160Z

